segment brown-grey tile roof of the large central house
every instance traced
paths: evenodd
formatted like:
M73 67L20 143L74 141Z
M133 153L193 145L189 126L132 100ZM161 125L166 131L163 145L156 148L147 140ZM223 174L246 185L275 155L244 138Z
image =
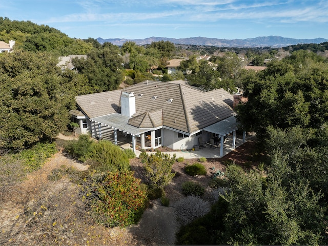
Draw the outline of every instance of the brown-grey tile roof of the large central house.
M136 113L129 124L138 128L166 126L192 133L235 115L233 96L223 89L202 92L190 86L144 81L122 90L76 97L90 118L120 112L121 92L134 92Z

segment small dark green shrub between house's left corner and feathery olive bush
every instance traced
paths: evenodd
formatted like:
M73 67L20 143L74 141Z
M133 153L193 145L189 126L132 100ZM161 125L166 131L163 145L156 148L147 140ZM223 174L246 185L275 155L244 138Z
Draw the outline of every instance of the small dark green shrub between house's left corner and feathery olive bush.
M90 151L90 147L93 141L89 135L83 134L78 137L78 140L72 140L64 146L65 150L73 158L77 158L80 161L86 161L86 155Z

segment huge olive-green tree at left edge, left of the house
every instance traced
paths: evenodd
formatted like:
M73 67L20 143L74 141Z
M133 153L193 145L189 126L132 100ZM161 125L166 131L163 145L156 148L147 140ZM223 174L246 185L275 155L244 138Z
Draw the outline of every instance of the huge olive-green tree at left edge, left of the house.
M6 148L24 148L66 129L76 94L57 61L26 51L0 56L0 139L8 139Z

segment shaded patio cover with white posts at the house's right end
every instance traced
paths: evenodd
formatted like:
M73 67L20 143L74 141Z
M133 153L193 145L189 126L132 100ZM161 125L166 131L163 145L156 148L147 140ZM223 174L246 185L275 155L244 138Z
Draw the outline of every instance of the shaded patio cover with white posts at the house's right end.
M237 121L236 117L230 116L227 119L223 119L211 126L208 126L204 128L204 131L214 133L220 136L220 156L223 156L223 144L224 144L224 137L230 133L233 133L232 135L232 149L236 148L236 130L237 127ZM246 132L243 131L242 134L242 141L244 142L246 139Z

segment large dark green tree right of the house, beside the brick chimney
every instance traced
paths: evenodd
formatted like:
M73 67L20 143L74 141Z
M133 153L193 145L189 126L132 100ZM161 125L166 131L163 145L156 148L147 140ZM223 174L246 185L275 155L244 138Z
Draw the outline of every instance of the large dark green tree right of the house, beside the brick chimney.
M299 51L245 79L238 119L246 129L265 135L267 127L318 128L328 119L328 64Z

